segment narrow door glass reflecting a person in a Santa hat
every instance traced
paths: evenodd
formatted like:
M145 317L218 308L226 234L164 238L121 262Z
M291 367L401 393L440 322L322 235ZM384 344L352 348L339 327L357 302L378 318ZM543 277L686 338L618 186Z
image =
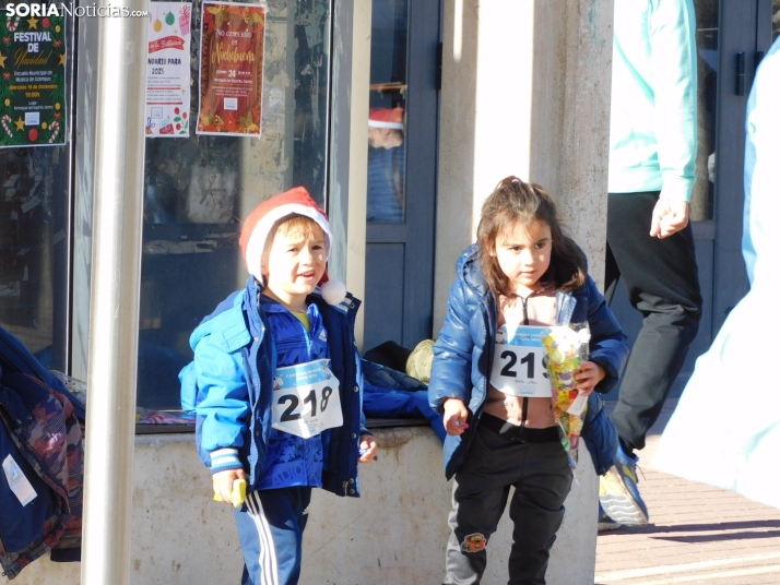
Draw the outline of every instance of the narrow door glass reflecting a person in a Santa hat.
M405 216L406 22L409 0L374 0L368 120L367 219Z

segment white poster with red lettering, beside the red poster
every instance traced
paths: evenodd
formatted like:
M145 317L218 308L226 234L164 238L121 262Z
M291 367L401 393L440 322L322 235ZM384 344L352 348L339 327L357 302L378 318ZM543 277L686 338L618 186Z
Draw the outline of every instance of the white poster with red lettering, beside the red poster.
M190 2L150 2L146 136L190 134Z

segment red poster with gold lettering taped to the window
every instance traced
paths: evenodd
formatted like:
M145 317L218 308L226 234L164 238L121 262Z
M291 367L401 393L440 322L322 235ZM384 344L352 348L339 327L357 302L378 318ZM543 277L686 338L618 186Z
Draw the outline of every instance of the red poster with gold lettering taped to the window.
M260 135L265 12L203 2L198 134Z

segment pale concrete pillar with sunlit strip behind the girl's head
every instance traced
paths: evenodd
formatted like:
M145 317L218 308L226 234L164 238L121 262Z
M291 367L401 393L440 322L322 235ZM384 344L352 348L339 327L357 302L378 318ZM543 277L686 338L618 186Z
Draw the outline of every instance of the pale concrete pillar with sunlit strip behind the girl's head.
M603 278L613 0L445 2L434 334L500 179L545 187Z

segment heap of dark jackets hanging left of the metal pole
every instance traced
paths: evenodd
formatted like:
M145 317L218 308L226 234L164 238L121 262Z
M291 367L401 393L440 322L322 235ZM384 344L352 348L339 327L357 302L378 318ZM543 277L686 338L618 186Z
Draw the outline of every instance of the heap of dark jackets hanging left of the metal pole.
M79 560L83 405L0 327L0 564L14 578L51 550Z

